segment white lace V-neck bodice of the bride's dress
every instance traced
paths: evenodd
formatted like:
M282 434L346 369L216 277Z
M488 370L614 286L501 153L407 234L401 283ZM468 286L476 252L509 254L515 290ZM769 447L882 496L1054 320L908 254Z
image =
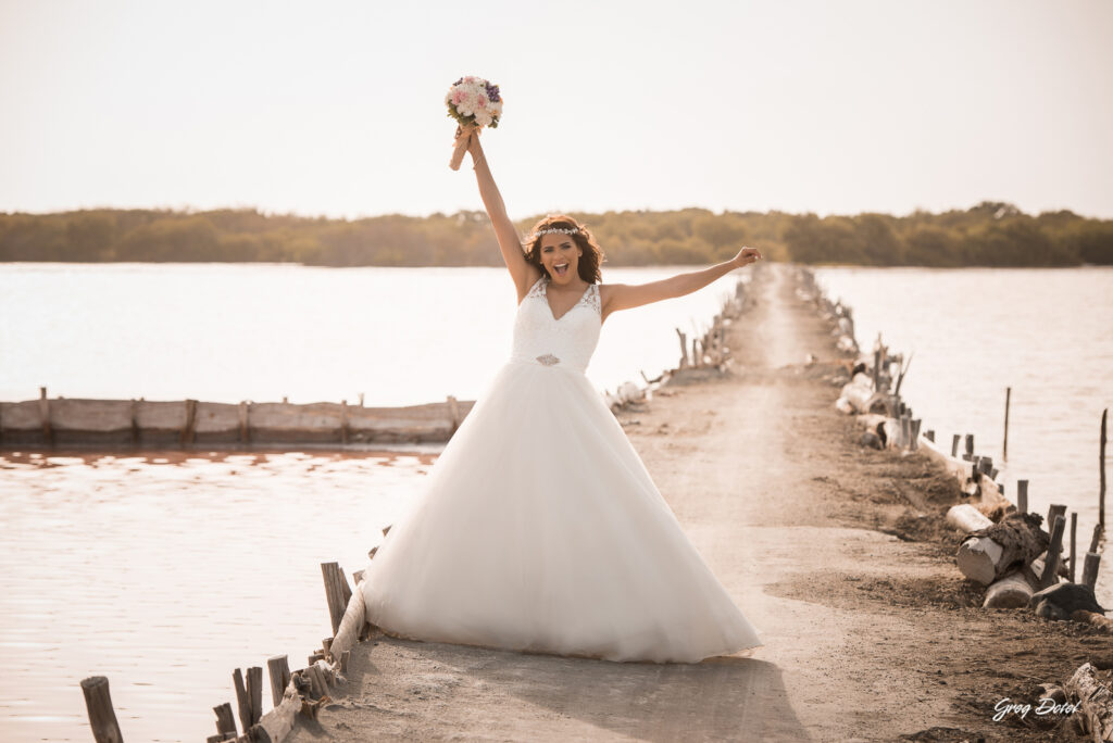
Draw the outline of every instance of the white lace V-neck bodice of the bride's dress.
M518 306L511 359L583 373L599 343L602 325L599 285L590 285L580 300L559 318L549 306L548 286L549 279L542 276Z

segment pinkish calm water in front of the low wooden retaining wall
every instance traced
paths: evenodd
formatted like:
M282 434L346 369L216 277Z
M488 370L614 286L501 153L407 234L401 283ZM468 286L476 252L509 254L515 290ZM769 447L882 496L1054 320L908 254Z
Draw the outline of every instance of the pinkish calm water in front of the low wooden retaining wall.
M332 635L319 564L359 569L433 458L0 454L0 740L91 740L104 675L125 740L204 741L233 668Z

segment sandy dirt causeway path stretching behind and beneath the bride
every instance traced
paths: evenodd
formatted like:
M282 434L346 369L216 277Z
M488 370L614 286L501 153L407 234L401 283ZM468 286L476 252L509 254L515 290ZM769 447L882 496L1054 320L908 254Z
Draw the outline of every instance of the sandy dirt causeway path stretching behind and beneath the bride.
M1036 682L1107 657L1109 637L978 607L942 524L957 486L857 445L833 405L846 364L794 276L760 266L729 328L732 374L684 375L620 416L761 633L754 657L612 663L376 636L287 740L1083 740L1065 719L995 722L994 706L1034 707Z

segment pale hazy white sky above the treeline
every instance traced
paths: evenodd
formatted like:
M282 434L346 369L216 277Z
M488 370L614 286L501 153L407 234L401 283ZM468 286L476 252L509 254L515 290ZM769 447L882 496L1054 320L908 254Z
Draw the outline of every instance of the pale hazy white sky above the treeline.
M0 0L0 211L1113 218L1113 2ZM467 162L465 160L465 162Z

